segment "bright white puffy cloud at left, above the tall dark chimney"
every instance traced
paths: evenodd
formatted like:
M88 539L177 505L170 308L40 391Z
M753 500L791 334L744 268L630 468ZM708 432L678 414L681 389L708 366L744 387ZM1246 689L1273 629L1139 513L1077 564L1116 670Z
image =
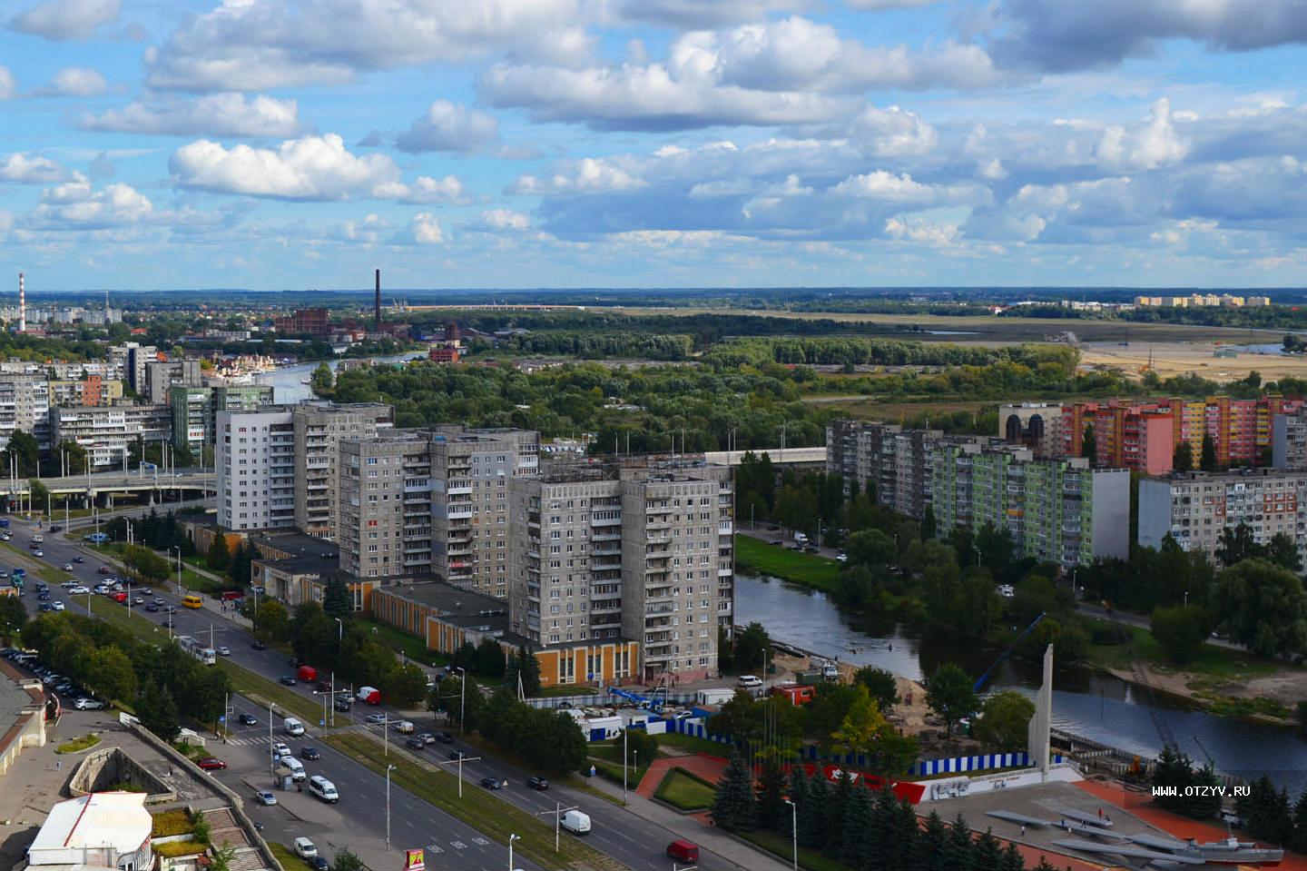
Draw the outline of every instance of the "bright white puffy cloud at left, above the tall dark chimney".
M384 154L356 156L340 136L286 140L277 150L197 140L169 161L174 180L220 194L288 200L345 200L393 192L399 167Z

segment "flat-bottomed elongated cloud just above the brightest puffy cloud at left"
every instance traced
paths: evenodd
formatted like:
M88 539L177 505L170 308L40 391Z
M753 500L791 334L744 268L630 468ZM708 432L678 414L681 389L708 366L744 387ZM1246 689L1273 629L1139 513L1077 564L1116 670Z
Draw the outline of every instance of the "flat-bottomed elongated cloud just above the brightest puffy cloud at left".
M102 115L86 115L82 129L169 136L294 136L299 107L294 99L246 97L234 92L199 99L133 102Z

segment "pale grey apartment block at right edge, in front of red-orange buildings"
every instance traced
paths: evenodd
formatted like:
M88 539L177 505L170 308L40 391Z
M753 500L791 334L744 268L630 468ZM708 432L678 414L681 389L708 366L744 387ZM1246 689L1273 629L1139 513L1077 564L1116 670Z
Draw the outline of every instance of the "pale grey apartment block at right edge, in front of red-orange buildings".
M1161 548L1171 536L1185 551L1216 558L1221 534L1246 523L1265 544L1287 535L1307 556L1307 472L1239 470L1175 472L1140 481L1138 543Z

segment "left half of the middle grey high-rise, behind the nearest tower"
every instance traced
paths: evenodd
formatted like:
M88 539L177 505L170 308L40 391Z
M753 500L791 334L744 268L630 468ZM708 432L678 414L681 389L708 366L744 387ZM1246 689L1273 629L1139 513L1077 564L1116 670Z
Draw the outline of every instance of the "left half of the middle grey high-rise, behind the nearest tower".
M431 574L430 435L386 430L339 442L336 544L359 578Z

